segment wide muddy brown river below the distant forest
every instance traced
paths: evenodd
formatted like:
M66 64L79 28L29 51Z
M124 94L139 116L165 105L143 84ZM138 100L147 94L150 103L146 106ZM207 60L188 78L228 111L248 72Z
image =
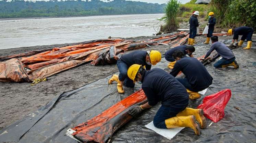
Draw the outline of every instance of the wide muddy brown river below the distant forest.
M0 20L0 49L150 36L163 14Z

